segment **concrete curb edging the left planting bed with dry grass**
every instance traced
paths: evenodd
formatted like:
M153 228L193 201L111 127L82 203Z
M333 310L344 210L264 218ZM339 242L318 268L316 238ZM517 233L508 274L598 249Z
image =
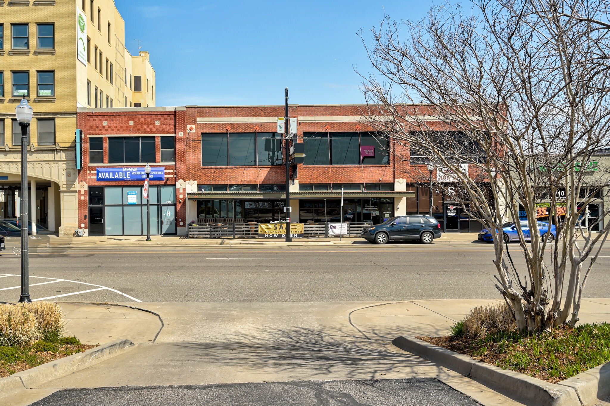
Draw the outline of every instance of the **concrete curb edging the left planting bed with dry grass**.
M116 357L133 348L135 348L135 344L131 340L117 339L85 352L79 352L26 371L17 372L0 379L0 397L12 394L16 390L33 389L35 386L81 371L81 369Z

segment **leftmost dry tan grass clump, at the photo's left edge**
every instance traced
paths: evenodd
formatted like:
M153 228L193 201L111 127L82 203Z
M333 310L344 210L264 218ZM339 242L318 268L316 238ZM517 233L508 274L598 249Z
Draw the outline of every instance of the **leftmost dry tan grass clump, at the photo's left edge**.
M37 320L29 308L0 305L0 346L29 346L38 338Z

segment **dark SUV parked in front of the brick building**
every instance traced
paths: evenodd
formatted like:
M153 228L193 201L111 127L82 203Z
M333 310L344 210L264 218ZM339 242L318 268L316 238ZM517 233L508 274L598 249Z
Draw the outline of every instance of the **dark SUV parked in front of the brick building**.
M430 216L398 216L362 229L360 236L368 242L386 244L392 240L419 240L431 244L442 235L440 224Z

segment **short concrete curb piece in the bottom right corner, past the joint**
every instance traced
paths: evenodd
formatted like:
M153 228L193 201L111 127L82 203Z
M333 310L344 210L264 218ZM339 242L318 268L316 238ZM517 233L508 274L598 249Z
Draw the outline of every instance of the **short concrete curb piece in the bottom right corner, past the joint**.
M597 403L610 396L610 362L562 380L558 385L573 388L583 405Z

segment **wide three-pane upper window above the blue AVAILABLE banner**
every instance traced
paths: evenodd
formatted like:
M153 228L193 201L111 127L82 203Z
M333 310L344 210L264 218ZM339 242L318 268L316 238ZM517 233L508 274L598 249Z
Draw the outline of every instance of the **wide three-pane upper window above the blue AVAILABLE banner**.
M109 137L109 164L156 162L154 137Z

